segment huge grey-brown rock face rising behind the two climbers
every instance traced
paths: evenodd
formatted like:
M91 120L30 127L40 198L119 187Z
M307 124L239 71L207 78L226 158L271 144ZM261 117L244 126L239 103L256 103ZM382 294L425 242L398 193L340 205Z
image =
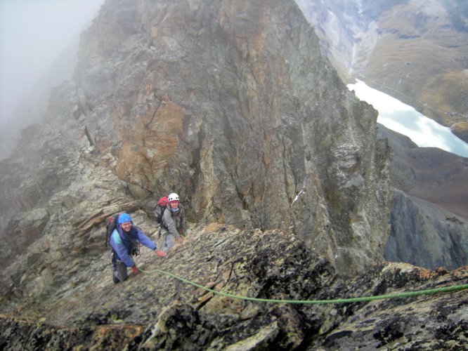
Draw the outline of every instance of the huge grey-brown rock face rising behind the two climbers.
M272 20L251 29L234 23L244 21L238 2L157 4L166 7L108 2L84 35L75 81L51 92L44 122L0 161L2 312L66 317L77 304L77 320L89 317L79 291L110 283L105 218L127 211L152 235L149 205L169 190L191 220L283 227L330 269L382 258L389 194L375 111L320 58L294 3L266 6ZM177 32L174 21L188 27ZM177 56L173 40L187 53Z

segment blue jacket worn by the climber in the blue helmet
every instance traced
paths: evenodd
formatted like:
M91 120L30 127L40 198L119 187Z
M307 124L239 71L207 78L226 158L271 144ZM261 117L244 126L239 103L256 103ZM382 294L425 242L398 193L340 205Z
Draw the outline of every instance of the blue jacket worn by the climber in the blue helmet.
M117 260L122 260L127 267L135 265L134 259L130 256L130 251L135 246L131 241L137 241L148 247L148 249L156 250L156 244L140 228L132 225L131 230L124 233L122 227L117 225L114 232L110 234L109 244L114 250Z

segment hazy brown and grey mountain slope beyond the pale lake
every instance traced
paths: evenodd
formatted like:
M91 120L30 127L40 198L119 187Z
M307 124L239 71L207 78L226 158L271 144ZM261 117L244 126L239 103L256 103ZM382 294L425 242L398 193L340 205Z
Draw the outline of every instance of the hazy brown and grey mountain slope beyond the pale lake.
M343 77L412 105L468 140L468 1L297 0Z

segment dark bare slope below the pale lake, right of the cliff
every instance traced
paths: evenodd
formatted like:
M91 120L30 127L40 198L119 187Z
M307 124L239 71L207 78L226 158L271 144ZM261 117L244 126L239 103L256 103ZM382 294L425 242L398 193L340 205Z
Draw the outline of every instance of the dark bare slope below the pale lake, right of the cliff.
M384 126L394 187L386 260L434 269L468 262L468 159L415 143Z

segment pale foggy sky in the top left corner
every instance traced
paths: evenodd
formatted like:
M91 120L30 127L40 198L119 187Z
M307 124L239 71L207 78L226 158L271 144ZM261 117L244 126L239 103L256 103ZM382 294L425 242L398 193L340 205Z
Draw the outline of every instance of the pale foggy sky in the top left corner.
M0 121L91 25L103 2L0 0Z

